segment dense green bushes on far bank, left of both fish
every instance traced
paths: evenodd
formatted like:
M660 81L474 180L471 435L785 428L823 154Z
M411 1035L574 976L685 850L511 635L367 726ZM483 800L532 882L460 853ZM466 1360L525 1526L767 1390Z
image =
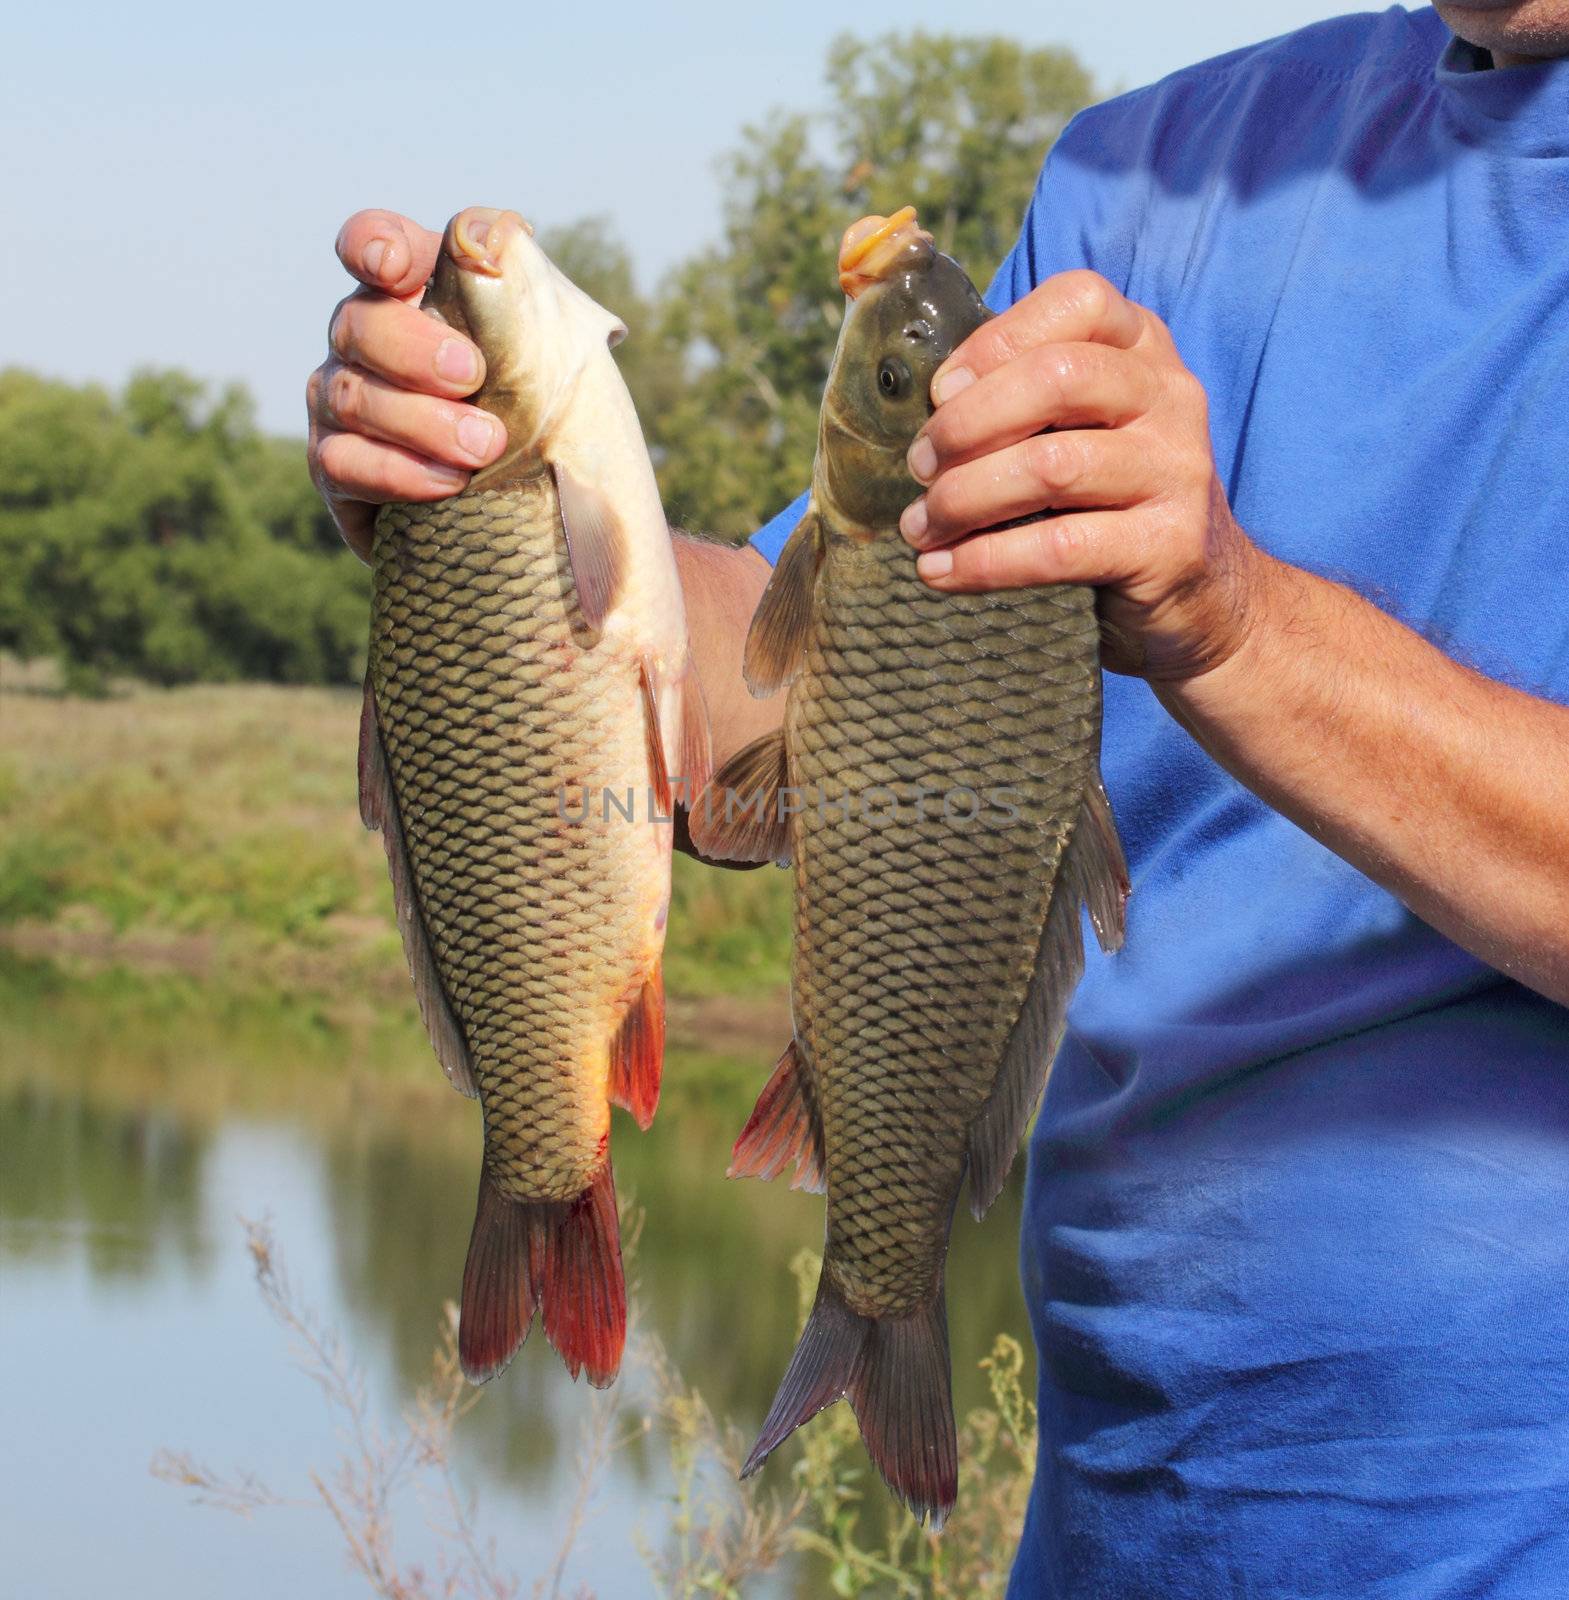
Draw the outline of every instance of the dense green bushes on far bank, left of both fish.
M242 390L3 371L0 459L0 648L59 659L74 688L357 675L365 573Z

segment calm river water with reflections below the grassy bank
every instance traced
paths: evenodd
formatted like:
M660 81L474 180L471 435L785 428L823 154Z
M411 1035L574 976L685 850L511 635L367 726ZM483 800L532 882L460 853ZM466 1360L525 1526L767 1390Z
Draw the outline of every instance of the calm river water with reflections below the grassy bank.
M621 1194L643 1213L641 1325L749 1437L795 1342L790 1262L822 1237L820 1198L723 1176L768 1066L673 1050L654 1130L617 1114L613 1139ZM310 1474L329 1475L344 1442L262 1304L242 1219L265 1219L296 1299L341 1336L368 1416L395 1437L457 1291L477 1163L475 1107L401 1011L345 1024L192 982L0 963L0 1590L368 1594L310 1506ZM993 1336L1025 1330L1017 1224L1017 1174L984 1227L956 1224L961 1414L985 1397L976 1363ZM617 1448L561 1595L656 1594L641 1552L672 1536L669 1453L638 1434L646 1373L617 1390ZM456 1427L456 1477L523 1595L561 1547L590 1394L536 1333ZM297 1504L197 1506L149 1470L171 1450ZM765 1482L787 1488L793 1459L781 1451ZM451 1555L427 1496L400 1493L390 1520L405 1562L437 1570ZM819 1592L800 1562L745 1589Z

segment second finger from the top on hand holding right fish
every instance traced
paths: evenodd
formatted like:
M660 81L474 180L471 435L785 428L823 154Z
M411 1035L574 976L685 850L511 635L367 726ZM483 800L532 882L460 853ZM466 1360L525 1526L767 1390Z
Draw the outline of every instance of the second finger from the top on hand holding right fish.
M1150 365L1105 344L1038 344L940 405L910 445L918 483L1044 427L1123 427L1160 395Z

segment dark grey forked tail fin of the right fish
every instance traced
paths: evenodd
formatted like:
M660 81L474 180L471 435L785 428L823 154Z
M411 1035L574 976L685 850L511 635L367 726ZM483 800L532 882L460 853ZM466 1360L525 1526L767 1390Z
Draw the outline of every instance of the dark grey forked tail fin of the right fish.
M741 1469L750 1477L803 1422L848 1398L888 1486L937 1530L958 1499L958 1435L944 1291L908 1317L860 1317L824 1274L801 1342L763 1432Z

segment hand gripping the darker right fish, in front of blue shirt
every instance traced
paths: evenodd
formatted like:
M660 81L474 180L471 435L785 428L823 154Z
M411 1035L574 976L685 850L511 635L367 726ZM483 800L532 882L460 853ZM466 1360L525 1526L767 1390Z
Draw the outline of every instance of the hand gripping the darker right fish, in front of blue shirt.
M929 488L900 528L934 589L1104 586L1107 667L1155 680L1238 648L1270 563L1232 518L1204 390L1158 317L1065 272L977 328L932 398L910 446Z

